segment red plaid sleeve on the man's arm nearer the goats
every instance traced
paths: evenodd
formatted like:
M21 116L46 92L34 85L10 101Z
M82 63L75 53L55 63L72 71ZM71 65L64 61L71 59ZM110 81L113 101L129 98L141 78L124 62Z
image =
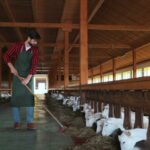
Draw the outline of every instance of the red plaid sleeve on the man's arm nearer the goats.
M33 75L36 73L38 62L39 62L39 50L38 50L38 48L35 48L33 50L32 66L31 66L29 74Z

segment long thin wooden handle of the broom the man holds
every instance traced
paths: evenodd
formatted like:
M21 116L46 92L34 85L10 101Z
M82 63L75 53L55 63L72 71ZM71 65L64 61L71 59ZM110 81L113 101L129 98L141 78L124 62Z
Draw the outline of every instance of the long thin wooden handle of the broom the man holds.
M17 76L18 77L18 79L21 81L21 77L18 75ZM37 95L35 95L33 92L32 92L32 90L27 86L27 85L24 85L26 88L27 88L27 90L33 95L33 96L35 96L37 99L39 99L38 97L37 97ZM60 121L47 109L47 107L46 106L44 106L43 107L54 119L55 119L55 121L63 128L64 126L60 123Z

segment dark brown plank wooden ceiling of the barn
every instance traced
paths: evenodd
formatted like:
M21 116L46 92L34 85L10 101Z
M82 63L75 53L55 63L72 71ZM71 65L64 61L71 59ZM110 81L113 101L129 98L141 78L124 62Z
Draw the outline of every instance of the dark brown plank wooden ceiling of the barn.
M79 0L0 0L0 46L25 40L29 24L24 23L75 24L69 34L69 67L70 74L78 74L79 4ZM89 0L89 68L150 42L149 14L150 0ZM13 26L12 22L24 26ZM32 25L42 36L38 69L63 70L63 29Z

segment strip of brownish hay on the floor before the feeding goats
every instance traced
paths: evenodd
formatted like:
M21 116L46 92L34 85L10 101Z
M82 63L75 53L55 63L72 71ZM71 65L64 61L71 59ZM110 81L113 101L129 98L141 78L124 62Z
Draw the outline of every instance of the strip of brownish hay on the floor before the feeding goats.
M119 150L111 137L102 137L93 129L85 127L83 114L80 112L73 112L71 108L63 106L55 99L48 100L48 107L68 127L65 134L70 135L75 144L80 144L68 147L66 150Z

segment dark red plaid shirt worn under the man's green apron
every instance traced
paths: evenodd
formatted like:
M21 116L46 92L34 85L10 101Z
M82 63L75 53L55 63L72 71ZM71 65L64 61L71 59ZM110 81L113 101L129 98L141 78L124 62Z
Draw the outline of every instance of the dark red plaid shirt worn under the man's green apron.
M21 50L25 50L25 44L24 42L19 42L14 44L12 47L10 47L7 52L4 54L4 61L8 64L11 62L11 59L16 61L18 54L21 52ZM36 47L31 47L29 51L32 52L32 65L29 74L35 74L36 68L38 65L38 56L39 56L39 51L38 48Z

